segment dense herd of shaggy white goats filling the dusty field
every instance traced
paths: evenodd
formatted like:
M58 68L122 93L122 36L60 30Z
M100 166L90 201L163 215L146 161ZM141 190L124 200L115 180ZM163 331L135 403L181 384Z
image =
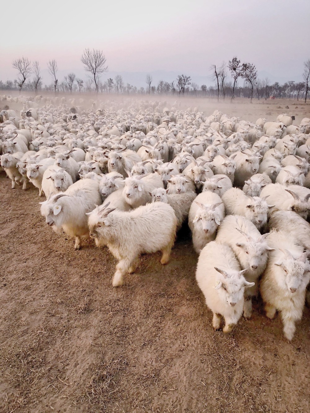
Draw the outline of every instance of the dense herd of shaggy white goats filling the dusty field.
M267 317L279 311L293 338L309 298L310 119L253 124L138 100L19 103L20 114L0 113L2 170L12 189L30 182L44 193L41 214L75 249L89 236L107 245L119 261L114 287L141 253L161 251L166 264L188 220L213 328L223 317L229 333L250 318L260 292Z

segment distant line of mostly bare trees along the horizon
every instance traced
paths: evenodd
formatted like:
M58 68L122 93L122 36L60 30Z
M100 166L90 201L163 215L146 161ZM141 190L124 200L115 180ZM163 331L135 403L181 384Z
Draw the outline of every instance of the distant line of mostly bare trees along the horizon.
M176 80L168 82L160 80L157 85L153 83L153 76L147 74L145 78L146 87L137 88L130 83L124 83L121 75L114 79L108 78L105 82L100 80L100 75L107 71L106 58L102 50L85 49L81 56L81 62L88 74L86 81L76 77L74 73L64 76L59 82L57 78L57 62L55 59L47 63L48 73L52 78L52 83L43 85L41 79L41 69L38 61L31 61L26 57L15 59L12 66L16 69L18 76L13 81L1 81L2 90L27 90L34 91L48 90L57 92L95 92L95 93L116 93L116 94L149 94L149 95L183 95L198 97L217 97L217 100L235 97L247 97L252 102L253 98L269 99L304 99L308 98L310 86L310 59L304 62L303 81L288 81L283 85L278 82L271 84L268 78L264 80L257 77L257 69L253 63L241 63L235 56L217 66L210 66L210 79L215 82L214 86L199 86L191 80L191 76L186 74L178 75ZM228 69L228 70L227 70ZM227 81L228 71L231 80ZM242 84L241 84L241 81Z

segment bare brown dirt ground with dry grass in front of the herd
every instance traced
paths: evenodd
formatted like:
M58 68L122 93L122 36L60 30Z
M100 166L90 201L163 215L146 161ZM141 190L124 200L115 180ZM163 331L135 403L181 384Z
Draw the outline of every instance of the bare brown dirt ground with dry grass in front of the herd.
M291 343L260 302L214 332L186 228L115 289L106 249L74 251L38 190L10 187L0 173L1 412L310 411L309 309Z

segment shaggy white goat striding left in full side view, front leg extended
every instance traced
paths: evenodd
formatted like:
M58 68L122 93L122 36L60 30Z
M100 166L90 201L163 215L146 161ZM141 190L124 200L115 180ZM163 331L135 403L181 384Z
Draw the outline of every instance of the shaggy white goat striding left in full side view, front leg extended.
M168 263L176 234L176 216L170 205L156 202L129 212L114 211L108 206L95 209L88 218L88 225L96 244L107 244L119 260L113 287L123 285L124 274L134 273L142 253L160 250L160 262Z

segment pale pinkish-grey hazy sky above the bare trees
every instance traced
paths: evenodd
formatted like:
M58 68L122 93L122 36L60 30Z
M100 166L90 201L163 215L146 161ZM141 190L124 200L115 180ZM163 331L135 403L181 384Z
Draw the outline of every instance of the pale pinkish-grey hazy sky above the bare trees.
M261 74L300 81L310 58L310 0L32 0L9 8L1 19L3 81L16 77L11 63L21 55L42 69L54 58L61 73L83 76L85 47L102 49L111 73L192 77L237 55Z

